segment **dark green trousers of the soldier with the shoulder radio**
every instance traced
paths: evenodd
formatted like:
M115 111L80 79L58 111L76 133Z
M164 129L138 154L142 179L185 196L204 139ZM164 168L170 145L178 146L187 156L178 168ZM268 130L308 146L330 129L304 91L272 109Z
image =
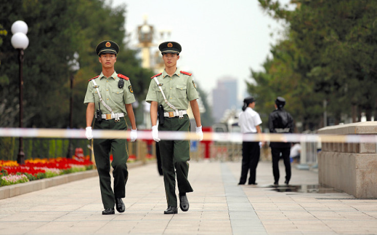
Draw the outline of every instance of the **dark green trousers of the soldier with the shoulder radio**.
M119 122L114 119L95 121L93 129L101 130L124 130L127 131L127 122L120 118ZM94 139L93 140L94 159L96 161L99 185L103 207L114 208L115 198L125 197L125 183L128 179L127 170L127 140L126 139ZM113 154L114 193L111 188L110 176L110 152Z

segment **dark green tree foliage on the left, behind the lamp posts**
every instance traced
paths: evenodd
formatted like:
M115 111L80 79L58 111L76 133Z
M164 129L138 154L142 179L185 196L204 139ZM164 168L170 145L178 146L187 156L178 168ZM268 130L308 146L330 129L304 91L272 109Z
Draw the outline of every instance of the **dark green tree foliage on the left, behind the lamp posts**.
M101 71L95 47L102 40L114 40L120 47L115 70L131 79L136 99L145 98L153 72L140 67L136 52L125 41L125 7L116 9L103 0L14 0L0 4L0 25L10 31L16 20L29 27L29 47L25 50L24 126L68 126L70 76L74 75L73 126L85 126L83 104L88 79ZM0 47L0 126L18 123L18 60L10 44L11 33ZM79 55L79 70L69 61Z

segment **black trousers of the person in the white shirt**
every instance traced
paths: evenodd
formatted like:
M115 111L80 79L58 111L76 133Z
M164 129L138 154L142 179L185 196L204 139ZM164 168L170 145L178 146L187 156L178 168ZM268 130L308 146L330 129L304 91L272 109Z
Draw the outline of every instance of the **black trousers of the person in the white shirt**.
M259 142L242 142L242 166L239 184L245 184L247 173L250 170L248 184L255 184L256 170L260 157Z

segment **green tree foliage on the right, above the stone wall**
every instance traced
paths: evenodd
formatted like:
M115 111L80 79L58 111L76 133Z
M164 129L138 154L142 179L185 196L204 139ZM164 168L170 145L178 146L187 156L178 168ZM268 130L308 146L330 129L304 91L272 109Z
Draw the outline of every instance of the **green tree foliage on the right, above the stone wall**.
M268 108L283 96L304 129L321 127L324 111L334 123L355 120L356 108L370 120L377 98L377 2L297 0L293 11L279 1L259 2L288 27L286 37L271 49L273 58L264 62L265 71L252 70L256 83L248 82L248 91L264 96L259 99Z

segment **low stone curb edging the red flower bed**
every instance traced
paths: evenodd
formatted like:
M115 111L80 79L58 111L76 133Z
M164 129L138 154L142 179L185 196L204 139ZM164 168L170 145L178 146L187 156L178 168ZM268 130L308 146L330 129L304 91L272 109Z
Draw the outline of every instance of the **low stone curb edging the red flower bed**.
M133 168L137 166L142 166L149 164L149 162L131 162L128 163L128 168ZM15 197L22 194L31 193L32 191L41 190L56 186L59 184L65 184L76 180L83 180L90 177L98 176L96 169L86 170L85 172L71 173L61 176L55 176L51 178L45 178L40 180L33 180L25 183L12 184L0 187L0 200Z

